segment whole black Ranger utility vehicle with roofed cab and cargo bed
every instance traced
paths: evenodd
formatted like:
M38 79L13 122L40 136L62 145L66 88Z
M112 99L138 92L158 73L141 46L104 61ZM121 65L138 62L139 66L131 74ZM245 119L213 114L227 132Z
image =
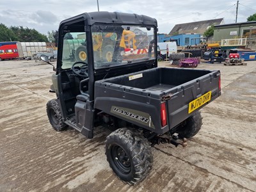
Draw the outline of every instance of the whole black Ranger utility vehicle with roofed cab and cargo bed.
M198 110L221 94L220 71L157 68L156 37L156 19L128 13L84 13L59 29L49 121L90 139L96 122L114 127L107 160L129 184L150 171L150 146L186 146L201 128Z

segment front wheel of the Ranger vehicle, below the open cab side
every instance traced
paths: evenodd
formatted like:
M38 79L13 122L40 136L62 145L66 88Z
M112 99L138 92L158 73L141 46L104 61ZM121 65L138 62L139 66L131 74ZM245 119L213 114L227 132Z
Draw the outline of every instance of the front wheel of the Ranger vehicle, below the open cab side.
M57 99L49 100L46 104L46 112L49 122L56 131L63 131L68 126L63 122L60 112L60 106Z

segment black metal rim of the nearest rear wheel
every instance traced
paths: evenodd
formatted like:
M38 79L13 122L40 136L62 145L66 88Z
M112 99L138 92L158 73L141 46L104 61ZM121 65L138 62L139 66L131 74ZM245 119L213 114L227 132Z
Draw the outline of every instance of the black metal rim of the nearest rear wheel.
M111 148L113 162L120 172L128 174L131 172L131 161L124 148L115 145Z

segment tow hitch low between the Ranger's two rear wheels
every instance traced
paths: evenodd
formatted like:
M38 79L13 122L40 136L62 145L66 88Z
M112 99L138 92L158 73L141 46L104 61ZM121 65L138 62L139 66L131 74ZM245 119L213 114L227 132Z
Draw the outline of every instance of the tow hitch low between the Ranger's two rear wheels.
M175 147L178 147L178 145L182 145L182 147L186 147L188 145L187 139L186 138L180 139L179 134L176 132L172 134L172 136L170 134L163 134L161 136L156 136L156 138L154 138L152 141L152 146L160 143L171 143L175 145Z

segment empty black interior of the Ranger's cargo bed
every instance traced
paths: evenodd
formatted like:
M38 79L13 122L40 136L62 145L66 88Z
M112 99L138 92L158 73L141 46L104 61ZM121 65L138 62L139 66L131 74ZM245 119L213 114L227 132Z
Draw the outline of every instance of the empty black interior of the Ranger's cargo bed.
M175 86L179 86L189 81L211 73L209 70L191 70L180 68L152 68L143 70L136 74L127 74L125 76L113 77L101 80L105 83L113 83L118 86L127 86L147 91L164 92Z

